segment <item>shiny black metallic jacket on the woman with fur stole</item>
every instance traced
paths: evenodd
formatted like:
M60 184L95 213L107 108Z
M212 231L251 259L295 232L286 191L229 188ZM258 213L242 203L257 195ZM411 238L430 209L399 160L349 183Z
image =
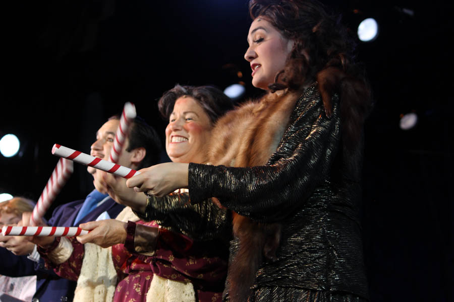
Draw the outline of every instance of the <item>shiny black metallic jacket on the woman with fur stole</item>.
M333 114L327 118L317 86L311 86L297 102L267 165L191 163L190 203L199 207L199 214L173 214L174 206L184 207L189 200L171 194L164 202L149 198L148 219L159 213L163 226L190 236L216 236L225 232L221 221L228 219L226 212L212 207L209 198L216 197L253 220L282 224L278 261L262 265L256 286L345 291L367 298L359 223L362 146L353 152L343 147L339 101L332 101ZM235 252L238 241L231 248Z

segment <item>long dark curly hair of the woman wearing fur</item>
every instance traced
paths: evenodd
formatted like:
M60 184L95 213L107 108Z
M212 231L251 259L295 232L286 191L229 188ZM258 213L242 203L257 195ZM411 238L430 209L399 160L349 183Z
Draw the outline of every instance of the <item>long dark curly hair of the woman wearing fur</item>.
M344 144L354 148L371 109L371 93L363 68L354 60L356 42L341 18L328 14L316 0L251 0L249 13L253 20L260 17L268 21L295 42L285 68L276 74L269 89L300 90L317 81L328 117L332 113L331 97L337 93Z

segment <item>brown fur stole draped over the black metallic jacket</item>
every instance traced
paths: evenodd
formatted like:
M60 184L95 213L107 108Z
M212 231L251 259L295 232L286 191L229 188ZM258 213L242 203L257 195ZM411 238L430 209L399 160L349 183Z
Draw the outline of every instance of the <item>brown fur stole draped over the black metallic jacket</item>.
M278 91L250 101L220 118L211 133L208 159L212 165L266 165L276 150L301 92ZM219 206L218 200L214 200ZM263 256L274 260L280 241L279 223L258 223L233 213L233 231L240 248L229 265L229 295L244 302L251 292Z

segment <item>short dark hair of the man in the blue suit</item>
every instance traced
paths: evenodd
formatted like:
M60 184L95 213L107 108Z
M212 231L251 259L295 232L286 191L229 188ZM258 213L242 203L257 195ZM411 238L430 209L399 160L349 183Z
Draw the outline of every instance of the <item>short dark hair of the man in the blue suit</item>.
M108 120L111 119L120 120L120 115L111 116ZM126 150L131 152L136 148L143 147L146 151L145 157L137 169L140 170L158 164L162 144L156 130L148 125L143 118L136 116L128 132L129 144Z

